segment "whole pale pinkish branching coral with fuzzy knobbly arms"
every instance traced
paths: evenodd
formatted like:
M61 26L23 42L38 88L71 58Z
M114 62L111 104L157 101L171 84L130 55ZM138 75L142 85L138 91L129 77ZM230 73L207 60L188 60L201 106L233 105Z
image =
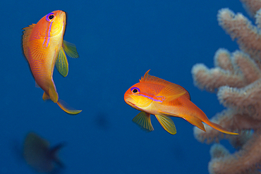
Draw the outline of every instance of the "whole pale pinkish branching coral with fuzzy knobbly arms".
M225 147L211 149L210 173L260 173L261 169L261 1L241 0L256 25L241 13L229 8L219 11L219 25L236 39L241 51L233 54L219 49L214 56L214 68L196 64L192 69L194 84L201 89L217 92L219 102L227 107L212 118L223 128L241 132L226 137L206 126L206 132L194 128L200 142L219 142L227 138L237 148L229 154ZM259 11L257 11L259 10Z

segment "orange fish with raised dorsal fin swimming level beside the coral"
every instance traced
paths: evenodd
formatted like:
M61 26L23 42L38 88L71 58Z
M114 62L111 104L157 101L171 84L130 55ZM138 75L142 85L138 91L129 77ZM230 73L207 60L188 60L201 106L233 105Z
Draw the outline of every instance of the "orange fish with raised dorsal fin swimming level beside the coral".
M204 131L206 130L202 122L220 132L238 135L238 133L229 132L220 125L211 122L205 113L190 101L190 95L186 89L149 75L149 71L145 73L144 77L141 77L140 82L130 87L124 94L126 103L141 111L133 118L134 123L150 132L154 130L150 120L150 114L152 114L164 130L174 135L176 127L170 117L180 117Z

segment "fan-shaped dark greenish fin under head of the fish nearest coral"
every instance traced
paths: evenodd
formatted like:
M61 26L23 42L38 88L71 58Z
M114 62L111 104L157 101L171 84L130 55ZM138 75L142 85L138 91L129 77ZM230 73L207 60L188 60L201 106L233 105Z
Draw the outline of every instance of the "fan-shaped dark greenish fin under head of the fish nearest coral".
M137 116L135 116L135 118L133 118L133 122L147 132L154 130L150 120L150 113L140 112Z

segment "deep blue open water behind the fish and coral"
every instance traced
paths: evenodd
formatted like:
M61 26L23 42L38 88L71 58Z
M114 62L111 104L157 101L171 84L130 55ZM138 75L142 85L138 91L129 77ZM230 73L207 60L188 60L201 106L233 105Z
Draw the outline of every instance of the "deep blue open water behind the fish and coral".
M67 143L59 153L64 174L208 173L211 146L193 137L193 125L173 118L170 135L152 116L154 131L144 132L123 95L150 69L186 88L208 118L222 111L190 72L195 63L212 68L219 48L238 49L217 23L221 8L247 15L240 1L227 0L1 1L0 173L36 173L21 156L30 131L51 146ZM42 100L21 47L22 28L56 10L68 14L64 39L80 58L68 57L68 76L54 70L54 82L60 99L83 109L76 116Z

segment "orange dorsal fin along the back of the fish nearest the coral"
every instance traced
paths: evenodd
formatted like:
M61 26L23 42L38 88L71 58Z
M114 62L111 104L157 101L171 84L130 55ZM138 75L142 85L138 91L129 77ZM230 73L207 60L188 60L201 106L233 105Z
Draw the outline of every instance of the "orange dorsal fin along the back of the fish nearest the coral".
M145 73L145 75L143 77L140 78L140 82L151 82L153 84L158 84L158 85L164 85L164 86L169 86L169 85L176 85L174 83L168 82L166 80L163 80L159 77L155 77L153 75L149 75L149 71L147 70L147 72ZM180 85L177 85L178 87L181 87ZM183 94L187 99L190 100L190 94L188 93L188 91L181 87L181 89L184 89L186 91L185 94Z

